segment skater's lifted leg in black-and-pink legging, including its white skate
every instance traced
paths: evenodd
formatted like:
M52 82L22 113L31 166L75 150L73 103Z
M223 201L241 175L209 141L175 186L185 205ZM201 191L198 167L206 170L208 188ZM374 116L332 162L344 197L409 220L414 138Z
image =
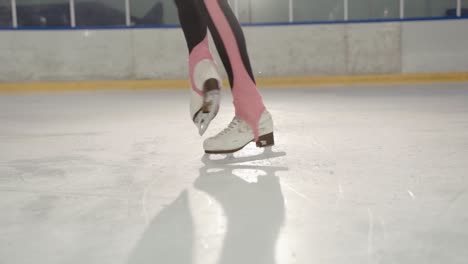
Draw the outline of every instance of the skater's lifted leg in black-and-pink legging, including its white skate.
M175 3L189 50L190 114L203 135L218 113L221 77L209 49L206 16L201 15L195 0L175 0Z

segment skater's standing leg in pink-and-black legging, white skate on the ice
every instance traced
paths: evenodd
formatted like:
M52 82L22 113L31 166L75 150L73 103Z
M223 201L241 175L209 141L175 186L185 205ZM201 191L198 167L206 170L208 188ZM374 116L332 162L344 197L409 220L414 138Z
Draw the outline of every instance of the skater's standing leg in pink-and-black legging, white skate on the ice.
M236 110L229 127L205 141L205 152L235 152L251 141L259 147L273 145L273 120L257 90L238 20L227 0L198 1L210 18L208 26L229 75Z

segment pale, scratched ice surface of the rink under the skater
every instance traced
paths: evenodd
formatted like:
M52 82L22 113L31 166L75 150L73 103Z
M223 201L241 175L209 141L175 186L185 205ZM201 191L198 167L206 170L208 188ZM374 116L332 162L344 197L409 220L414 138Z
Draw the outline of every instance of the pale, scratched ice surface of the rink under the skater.
M468 84L262 93L227 159L188 90L0 95L0 263L467 263Z

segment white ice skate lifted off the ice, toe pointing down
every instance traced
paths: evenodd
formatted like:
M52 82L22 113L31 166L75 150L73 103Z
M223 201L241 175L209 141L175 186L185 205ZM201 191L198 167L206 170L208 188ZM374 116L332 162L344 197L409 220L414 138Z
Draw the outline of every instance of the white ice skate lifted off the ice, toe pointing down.
M219 110L221 77L213 61L197 63L192 76L190 116L200 135L208 129Z

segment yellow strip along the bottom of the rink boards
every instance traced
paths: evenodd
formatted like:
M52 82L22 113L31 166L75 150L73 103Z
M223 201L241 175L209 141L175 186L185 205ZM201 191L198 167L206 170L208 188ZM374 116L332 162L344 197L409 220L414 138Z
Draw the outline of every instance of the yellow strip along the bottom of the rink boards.
M356 76L309 76L258 78L261 88L395 85L417 83L468 82L468 72L422 73ZM225 87L228 84L225 81ZM102 90L152 90L187 89L187 80L116 80L73 82L0 83L0 93L102 91Z

